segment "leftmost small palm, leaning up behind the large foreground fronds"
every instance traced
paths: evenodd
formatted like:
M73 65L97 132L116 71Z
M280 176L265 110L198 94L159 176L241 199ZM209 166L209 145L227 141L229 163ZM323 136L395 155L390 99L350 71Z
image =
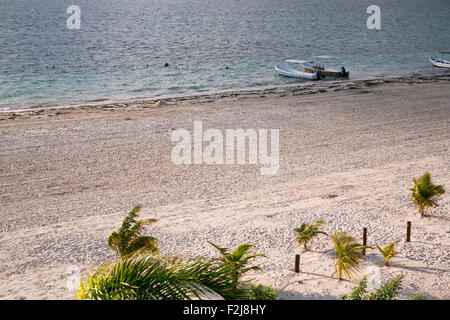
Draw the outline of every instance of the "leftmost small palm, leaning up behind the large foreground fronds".
M158 251L158 239L142 236L146 224L154 223L156 219L136 220L141 211L140 206L134 207L123 220L119 230L114 231L108 238L108 246L120 257L126 257L137 251Z

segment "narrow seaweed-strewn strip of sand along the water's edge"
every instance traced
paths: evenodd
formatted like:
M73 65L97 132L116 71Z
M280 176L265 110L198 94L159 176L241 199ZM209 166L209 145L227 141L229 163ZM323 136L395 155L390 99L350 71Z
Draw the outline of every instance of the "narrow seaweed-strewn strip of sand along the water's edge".
M400 77L379 77L379 78L367 78L358 80L325 80L317 82L302 82L275 86L263 86L248 89L228 89L218 92L207 92L207 93L192 93L192 94L174 94L174 95L164 95L161 97L152 98L130 98L123 100L111 100L111 101L99 101L99 102L83 102L74 104L61 104L61 105L51 105L51 106L36 106L36 107L24 107L15 108L8 107L7 109L0 109L0 121L5 120L5 114L26 114L26 113L46 113L45 111L56 111L56 110L80 110L80 109L92 109L99 110L105 107L110 108L126 108L126 107L158 107L154 105L159 101L163 101L169 105L177 104L179 102L194 101L195 100L211 100L211 99L227 99L233 98L251 98L252 96L261 94L271 94L276 93L279 95L284 94L316 94L331 91L346 90L346 89L359 89L363 87L369 87L372 85L379 85L382 83L429 83L434 81L450 81L450 73L444 74L422 74L413 76L400 76ZM315 91L314 88L319 88ZM311 90L305 90L311 89ZM323 91L325 90L325 91ZM303 92L301 92L303 91ZM152 106L153 105L153 106ZM1 124L1 123L0 123Z

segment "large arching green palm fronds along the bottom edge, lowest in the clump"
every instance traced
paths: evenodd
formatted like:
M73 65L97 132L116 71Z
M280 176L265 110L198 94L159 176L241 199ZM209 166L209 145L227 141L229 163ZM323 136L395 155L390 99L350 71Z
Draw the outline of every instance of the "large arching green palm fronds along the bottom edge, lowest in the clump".
M103 263L81 281L80 300L188 300L208 294L224 299L248 299L249 290L238 287L229 266L211 259L176 261L140 253Z

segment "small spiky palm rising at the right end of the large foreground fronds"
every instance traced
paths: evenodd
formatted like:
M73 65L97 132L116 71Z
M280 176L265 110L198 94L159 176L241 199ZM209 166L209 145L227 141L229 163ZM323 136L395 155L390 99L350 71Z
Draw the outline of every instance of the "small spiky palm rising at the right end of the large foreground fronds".
M231 271L231 278L233 279L236 288L240 282L241 276L250 270L261 270L258 266L247 267L250 260L257 257L266 257L264 254L249 254L249 251L254 246L253 244L241 244L233 251L229 252L227 248L219 247L214 243L208 241L210 245L219 251L221 257L217 260L222 262L222 265L227 266Z

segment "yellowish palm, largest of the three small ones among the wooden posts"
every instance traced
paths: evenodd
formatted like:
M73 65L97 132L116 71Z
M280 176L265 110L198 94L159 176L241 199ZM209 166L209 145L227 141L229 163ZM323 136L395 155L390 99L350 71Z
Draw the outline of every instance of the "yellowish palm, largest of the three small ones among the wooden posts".
M335 268L339 280L342 279L343 274L351 279L354 273L360 272L359 263L364 259L364 249L371 247L357 243L355 238L345 231L333 232L331 239L336 248Z

